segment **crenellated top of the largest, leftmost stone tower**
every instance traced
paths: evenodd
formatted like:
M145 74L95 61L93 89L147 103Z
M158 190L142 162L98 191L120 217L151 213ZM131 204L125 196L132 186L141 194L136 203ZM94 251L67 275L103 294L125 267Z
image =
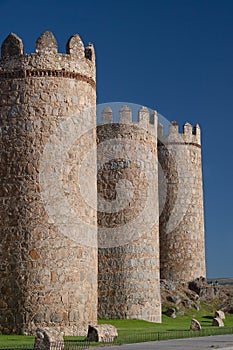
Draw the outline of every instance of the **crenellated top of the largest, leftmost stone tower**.
M0 77L58 76L79 79L95 87L95 51L91 43L85 48L78 34L71 36L66 53L58 53L57 41L51 32L44 32L36 41L35 53L24 54L23 42L9 34L1 46Z

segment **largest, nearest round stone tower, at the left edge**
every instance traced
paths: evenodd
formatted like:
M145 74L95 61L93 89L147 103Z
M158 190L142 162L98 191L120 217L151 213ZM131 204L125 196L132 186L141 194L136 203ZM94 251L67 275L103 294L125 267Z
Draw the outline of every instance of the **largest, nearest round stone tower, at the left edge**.
M38 38L33 54L23 53L15 34L2 44L2 333L56 326L77 335L96 323L96 214L75 187L74 169L95 145L95 85L93 46L84 49L78 35L66 54L57 52L50 32ZM95 197L94 171L88 183Z

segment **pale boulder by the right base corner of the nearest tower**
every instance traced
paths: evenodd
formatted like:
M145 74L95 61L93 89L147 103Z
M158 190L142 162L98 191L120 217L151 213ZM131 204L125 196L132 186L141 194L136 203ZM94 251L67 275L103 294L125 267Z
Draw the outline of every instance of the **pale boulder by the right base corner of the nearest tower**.
M116 327L111 324L88 326L87 340L94 342L112 342L118 337Z

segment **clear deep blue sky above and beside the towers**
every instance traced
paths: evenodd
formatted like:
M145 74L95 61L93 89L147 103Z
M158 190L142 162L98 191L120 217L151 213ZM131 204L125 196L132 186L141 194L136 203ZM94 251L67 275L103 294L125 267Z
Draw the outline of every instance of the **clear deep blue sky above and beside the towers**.
M203 138L207 272L233 277L233 1L0 0L0 40L26 53L53 31L59 51L79 33L97 55L98 103L156 109Z

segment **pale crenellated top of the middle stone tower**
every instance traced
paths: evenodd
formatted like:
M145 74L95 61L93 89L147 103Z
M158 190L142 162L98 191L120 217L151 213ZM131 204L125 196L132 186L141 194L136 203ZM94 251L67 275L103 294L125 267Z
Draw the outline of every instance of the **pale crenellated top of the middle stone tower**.
M137 121L133 121L133 112L132 109L124 105L118 111L116 116L116 121L114 121L113 111L107 106L102 110L100 124L127 124L132 126L138 126L142 129L150 131L153 135L157 135L157 112L153 111L152 113L146 107L141 107L137 111Z

